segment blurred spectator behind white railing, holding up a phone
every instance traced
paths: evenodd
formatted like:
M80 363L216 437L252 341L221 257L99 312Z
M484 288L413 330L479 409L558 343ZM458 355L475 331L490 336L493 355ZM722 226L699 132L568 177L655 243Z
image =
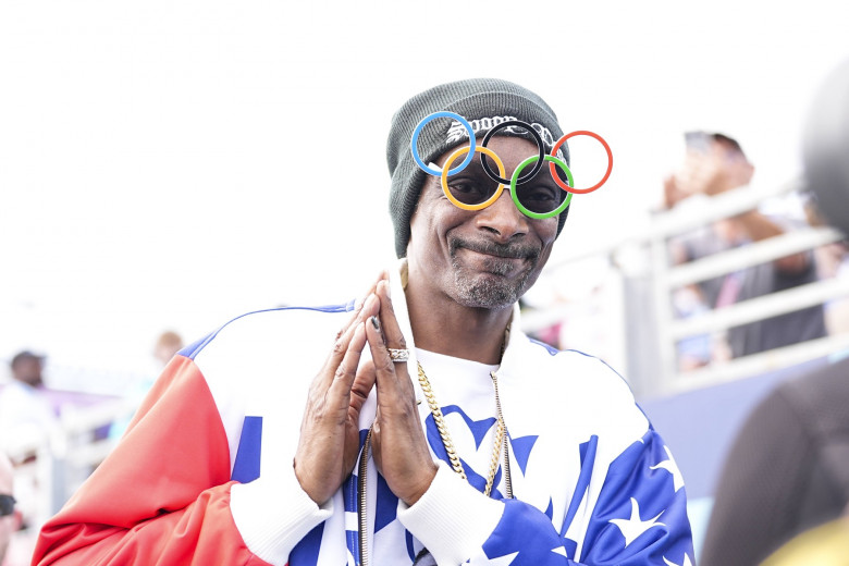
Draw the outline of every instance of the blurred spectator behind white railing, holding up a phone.
M680 171L664 182L667 209L699 206L706 197L749 184L754 167L737 140L704 132L688 133L686 139L687 153ZM778 236L788 230L791 230L788 221L750 210L673 239L672 261L675 264L693 261ZM813 254L792 254L678 290L673 305L679 317L691 317L706 309L730 306L816 280ZM682 369L689 369L705 365L710 359L748 356L821 337L825 333L823 309L816 306L729 329L724 341L727 352L723 352L722 343L717 347L697 336L679 345L679 353L686 366Z

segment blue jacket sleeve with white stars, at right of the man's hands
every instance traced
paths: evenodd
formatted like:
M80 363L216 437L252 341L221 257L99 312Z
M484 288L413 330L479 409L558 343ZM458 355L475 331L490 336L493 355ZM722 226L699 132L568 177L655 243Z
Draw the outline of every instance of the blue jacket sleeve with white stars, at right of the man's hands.
M595 439L595 438L594 438ZM687 497L675 460L650 429L606 470L598 501L581 517L573 512L589 495L593 454L583 458L576 493L559 532L549 515L518 500L505 501L501 521L483 544L484 561L512 566L684 566L692 564ZM577 521L583 544L566 534ZM580 556L576 554L580 552ZM482 558L482 557L481 557ZM578 561L578 562L576 562Z

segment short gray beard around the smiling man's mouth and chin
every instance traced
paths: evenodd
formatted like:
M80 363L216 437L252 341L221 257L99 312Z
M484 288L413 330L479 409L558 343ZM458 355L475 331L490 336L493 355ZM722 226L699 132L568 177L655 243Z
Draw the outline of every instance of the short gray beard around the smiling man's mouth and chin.
M464 307L503 309L512 307L528 290L533 266L539 257L538 251L529 251L533 261L518 280L506 281L499 275L506 274L512 266L499 258L487 262L488 273L470 275L455 254L458 242L452 242L452 267L454 268L454 285L457 291L455 300Z

